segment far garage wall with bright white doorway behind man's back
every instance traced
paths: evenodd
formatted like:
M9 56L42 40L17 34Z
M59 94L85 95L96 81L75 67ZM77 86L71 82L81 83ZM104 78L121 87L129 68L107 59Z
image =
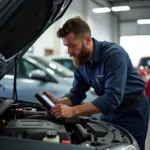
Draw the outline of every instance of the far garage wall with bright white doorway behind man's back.
M150 3L143 8L138 6L128 12L120 13L120 44L128 52L131 61L137 67L139 60L143 56L149 56L150 25L139 25L137 19L150 19Z

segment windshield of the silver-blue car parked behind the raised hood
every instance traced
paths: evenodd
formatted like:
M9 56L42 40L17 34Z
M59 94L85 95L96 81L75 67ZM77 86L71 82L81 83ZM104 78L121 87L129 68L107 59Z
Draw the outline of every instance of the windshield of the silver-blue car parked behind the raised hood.
M43 66L50 68L55 74L61 76L61 77L73 77L74 74L72 71L67 69L66 67L60 65L57 62L50 61L45 59L45 57L38 57L38 56L30 56L34 60L41 63Z

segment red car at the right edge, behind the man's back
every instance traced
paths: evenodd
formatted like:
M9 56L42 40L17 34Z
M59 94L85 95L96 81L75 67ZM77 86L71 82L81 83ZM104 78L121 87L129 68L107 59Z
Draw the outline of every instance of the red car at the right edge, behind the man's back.
M137 71L147 85L145 92L150 99L150 57L141 58Z

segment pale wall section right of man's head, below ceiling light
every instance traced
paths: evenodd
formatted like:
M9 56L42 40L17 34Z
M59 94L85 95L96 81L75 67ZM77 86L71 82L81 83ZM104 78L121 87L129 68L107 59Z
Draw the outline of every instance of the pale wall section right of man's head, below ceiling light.
M117 18L112 13L95 14L92 8L98 7L94 3L89 4L88 23L92 29L92 35L99 40L118 42Z

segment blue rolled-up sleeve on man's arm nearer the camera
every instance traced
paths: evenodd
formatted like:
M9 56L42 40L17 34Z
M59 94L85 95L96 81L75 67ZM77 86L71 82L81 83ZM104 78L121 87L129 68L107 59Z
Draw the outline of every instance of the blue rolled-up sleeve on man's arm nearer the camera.
M105 75L105 93L92 103L107 115L117 108L123 99L127 78L126 56L122 53L108 56Z

